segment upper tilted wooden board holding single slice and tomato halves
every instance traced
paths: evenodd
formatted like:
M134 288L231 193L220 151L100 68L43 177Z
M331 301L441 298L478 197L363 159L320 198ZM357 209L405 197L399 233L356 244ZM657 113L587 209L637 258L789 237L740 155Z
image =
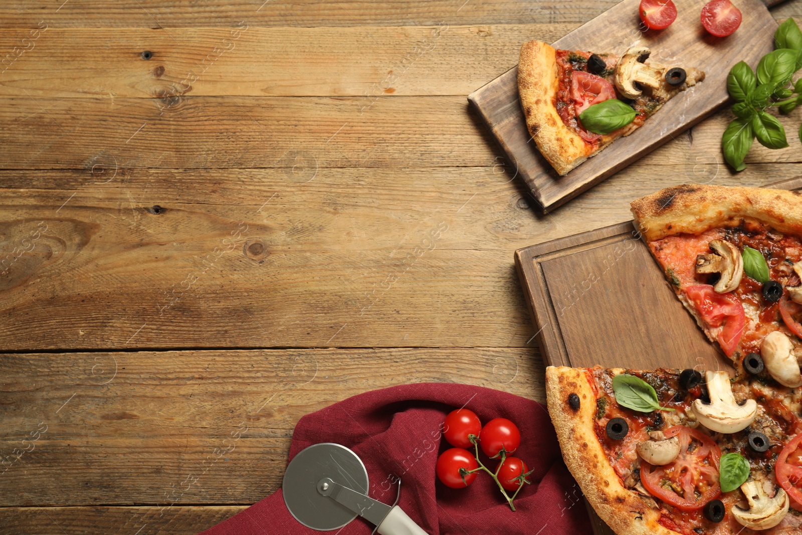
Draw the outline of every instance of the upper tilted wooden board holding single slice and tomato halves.
M772 51L777 22L767 4L782 0L733 0L743 12L743 22L726 38L713 37L703 29L699 14L706 1L674 2L678 11L674 24L666 30L642 32L640 0L623 0L553 43L565 50L619 55L630 47L650 47L651 58L658 63L698 67L707 75L702 83L666 103L631 136L616 140L565 176L557 175L529 136L518 100L517 67L468 95L545 213L710 116L729 98L726 81L731 67L742 59L756 67Z

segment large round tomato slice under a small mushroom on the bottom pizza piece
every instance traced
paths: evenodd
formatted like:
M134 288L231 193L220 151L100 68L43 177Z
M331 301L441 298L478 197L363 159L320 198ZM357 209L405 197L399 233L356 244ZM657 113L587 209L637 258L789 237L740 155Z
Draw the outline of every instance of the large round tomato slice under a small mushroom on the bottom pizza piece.
M721 494L721 449L703 432L675 425L666 438L679 437L679 455L664 466L641 461L641 481L653 496L683 511L702 509ZM690 449L689 449L690 448Z

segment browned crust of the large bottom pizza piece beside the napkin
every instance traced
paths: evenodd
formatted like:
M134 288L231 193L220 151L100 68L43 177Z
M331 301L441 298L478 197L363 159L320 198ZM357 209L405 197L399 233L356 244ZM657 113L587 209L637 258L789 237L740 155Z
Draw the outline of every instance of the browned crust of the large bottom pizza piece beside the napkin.
M576 393L578 411L568 397ZM627 490L593 432L596 395L581 368L546 368L546 400L565 465L596 513L618 535L677 535L658 524L660 513Z

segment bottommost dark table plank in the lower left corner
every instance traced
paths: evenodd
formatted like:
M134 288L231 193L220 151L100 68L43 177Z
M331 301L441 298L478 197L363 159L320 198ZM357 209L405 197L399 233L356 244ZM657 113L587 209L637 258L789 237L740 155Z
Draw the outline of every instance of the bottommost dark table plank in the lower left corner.
M161 515L158 507L2 507L0 534L18 535L195 535L246 505L174 507Z

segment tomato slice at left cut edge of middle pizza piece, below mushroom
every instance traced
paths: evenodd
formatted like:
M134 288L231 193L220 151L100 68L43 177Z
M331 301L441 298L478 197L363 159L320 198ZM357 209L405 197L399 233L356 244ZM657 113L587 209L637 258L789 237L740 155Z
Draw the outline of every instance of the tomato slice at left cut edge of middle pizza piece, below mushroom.
M739 298L732 293L717 294L709 284L688 286L685 292L707 326L724 326L719 333L719 344L728 357L732 356L746 325L746 314Z

